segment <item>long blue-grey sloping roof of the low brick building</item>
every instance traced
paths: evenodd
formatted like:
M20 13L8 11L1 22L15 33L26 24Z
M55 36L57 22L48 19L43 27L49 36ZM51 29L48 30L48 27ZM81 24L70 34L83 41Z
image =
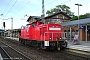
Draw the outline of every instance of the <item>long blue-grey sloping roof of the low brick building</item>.
M69 22L63 22L62 26L78 25L79 24L90 24L90 18L74 20Z

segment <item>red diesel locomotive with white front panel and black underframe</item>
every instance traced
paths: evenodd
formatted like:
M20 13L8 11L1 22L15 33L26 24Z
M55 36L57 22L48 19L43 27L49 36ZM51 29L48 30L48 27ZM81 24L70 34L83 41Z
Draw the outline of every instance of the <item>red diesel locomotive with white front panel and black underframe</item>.
M62 40L62 26L60 24L44 24L33 22L21 29L19 41L39 49L62 49L67 42Z

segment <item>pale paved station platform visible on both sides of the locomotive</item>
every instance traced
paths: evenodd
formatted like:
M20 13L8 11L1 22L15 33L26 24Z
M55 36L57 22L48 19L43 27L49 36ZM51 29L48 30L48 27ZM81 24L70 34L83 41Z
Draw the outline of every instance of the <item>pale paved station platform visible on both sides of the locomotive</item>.
M13 38L13 37L6 37L6 38L10 38L16 41L19 41L19 38ZM72 43L72 41L67 41L68 45L67 48L69 49L76 49L76 50L81 50L81 51L86 51L86 52L90 52L90 41L81 41L80 44L78 45L74 45Z

